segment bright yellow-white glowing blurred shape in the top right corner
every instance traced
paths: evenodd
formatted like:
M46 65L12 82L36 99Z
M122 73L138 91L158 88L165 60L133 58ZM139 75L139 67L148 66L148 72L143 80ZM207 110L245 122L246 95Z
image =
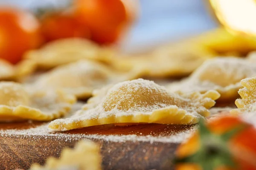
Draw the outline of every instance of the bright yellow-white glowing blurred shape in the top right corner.
M256 0L209 0L228 29L256 36Z

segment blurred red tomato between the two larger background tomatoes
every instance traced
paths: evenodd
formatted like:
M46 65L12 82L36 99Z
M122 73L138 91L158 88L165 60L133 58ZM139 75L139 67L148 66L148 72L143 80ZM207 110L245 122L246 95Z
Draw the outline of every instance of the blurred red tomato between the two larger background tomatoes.
M48 14L41 20L41 31L46 41L68 37L90 38L88 27L81 24L73 14Z

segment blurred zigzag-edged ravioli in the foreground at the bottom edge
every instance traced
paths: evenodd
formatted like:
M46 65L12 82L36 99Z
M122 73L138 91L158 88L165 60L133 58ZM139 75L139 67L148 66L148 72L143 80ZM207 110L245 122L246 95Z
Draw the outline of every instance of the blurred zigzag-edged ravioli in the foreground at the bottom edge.
M100 148L90 141L80 141L76 146L65 148L59 159L48 158L44 166L32 164L30 170L101 170Z

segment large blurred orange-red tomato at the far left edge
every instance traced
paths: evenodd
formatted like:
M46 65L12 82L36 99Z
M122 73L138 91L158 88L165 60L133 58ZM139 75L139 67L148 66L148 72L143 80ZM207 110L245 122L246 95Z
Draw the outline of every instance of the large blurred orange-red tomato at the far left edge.
M15 8L0 8L0 58L13 64L41 43L38 20Z

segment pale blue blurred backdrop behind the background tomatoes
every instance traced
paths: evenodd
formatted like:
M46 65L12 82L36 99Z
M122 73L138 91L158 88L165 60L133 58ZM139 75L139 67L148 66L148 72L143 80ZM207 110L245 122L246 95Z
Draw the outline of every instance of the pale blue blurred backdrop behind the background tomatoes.
M67 6L70 0L0 0L1 6L37 8ZM122 40L126 52L143 52L215 28L205 0L140 0L137 17Z

